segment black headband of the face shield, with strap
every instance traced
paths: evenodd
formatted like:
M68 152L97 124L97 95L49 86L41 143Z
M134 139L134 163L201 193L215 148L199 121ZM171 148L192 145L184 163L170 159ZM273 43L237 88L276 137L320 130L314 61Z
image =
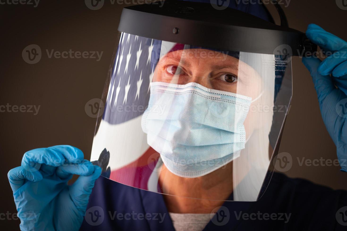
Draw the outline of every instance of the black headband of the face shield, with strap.
M317 49L304 33L288 27L278 4L281 26L236 9L214 6L179 0L130 6L123 9L118 30L224 51L306 56Z

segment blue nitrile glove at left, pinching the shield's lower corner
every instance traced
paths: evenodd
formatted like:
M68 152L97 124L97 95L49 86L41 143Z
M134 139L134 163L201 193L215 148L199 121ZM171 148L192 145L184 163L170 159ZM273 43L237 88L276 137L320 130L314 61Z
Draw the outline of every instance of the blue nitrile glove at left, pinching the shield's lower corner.
M20 230L78 230L101 168L69 145L24 154L22 165L8 172ZM72 175L81 175L67 185Z

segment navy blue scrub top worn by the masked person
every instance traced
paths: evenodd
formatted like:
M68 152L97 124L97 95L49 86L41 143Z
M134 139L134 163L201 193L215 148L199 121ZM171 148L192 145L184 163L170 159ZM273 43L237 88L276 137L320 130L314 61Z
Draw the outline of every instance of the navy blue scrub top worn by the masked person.
M275 172L259 201L225 202L204 230L347 230L344 206L344 190ZM80 230L175 231L161 194L104 177L95 182Z

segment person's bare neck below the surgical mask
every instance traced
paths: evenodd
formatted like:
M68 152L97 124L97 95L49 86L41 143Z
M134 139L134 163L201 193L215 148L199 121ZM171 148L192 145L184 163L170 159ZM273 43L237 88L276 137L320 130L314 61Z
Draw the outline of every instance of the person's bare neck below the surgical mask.
M159 184L169 212L211 213L230 196L231 176L232 162L210 174L196 178L176 176L163 165Z

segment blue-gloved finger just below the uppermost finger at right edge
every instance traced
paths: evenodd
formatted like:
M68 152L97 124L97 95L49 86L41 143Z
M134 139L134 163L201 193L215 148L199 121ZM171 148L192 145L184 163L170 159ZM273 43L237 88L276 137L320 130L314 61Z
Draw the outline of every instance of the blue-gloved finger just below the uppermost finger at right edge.
M347 50L337 51L324 59L324 61L318 67L318 73L321 75L329 75L339 64L345 62L346 60Z

